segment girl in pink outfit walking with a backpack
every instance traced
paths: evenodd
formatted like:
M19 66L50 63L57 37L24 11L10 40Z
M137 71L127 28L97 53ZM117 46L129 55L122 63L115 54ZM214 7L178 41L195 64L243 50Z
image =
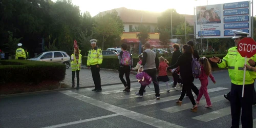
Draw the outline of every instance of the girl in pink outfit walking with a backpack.
M201 97L204 94L204 97L206 99L207 105L205 105L205 108L209 108L212 106L210 102L210 97L207 91L207 86L208 86L208 76L212 80L212 82L216 83L214 76L211 75L211 66L206 57L200 57L199 63L201 65L201 73L199 75L199 79L201 81L201 87L199 89L199 95L196 99L197 104L199 104L199 101Z

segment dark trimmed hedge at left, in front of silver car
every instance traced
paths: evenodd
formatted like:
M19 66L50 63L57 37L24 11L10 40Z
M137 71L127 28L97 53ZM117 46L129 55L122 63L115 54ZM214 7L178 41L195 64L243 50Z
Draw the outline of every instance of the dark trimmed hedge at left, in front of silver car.
M65 78L66 66L32 60L0 60L0 81L2 83L39 83L44 80L58 80Z

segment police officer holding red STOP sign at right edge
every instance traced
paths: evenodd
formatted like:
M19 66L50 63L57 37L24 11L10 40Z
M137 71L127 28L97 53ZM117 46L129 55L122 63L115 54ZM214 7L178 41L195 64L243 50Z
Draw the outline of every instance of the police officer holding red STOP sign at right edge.
M238 52L238 42L247 37L249 33L233 30L234 42L236 47L228 50L228 53L223 59L213 56L210 58L212 62L216 62L219 68L227 68L229 77L231 79L230 91L230 107L232 116L232 126L239 127L240 112L242 108L241 122L242 127L252 128L252 97L254 88L255 72L246 69L244 97L242 98L243 76L244 76L244 62L245 58ZM256 55L253 55L247 65L255 66Z

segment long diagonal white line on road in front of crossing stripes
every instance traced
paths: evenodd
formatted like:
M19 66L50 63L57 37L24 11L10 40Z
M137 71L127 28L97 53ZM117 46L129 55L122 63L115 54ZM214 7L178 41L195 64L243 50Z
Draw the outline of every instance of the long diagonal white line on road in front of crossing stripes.
M137 121L140 121L140 122L143 122L143 123L155 126L155 127L164 127L164 128L165 127L182 127L180 125L176 125L176 124L169 123L169 122L166 122L166 121L163 121L160 119L156 119L156 118L153 118L150 116L136 113L134 111L126 110L126 109L120 108L118 106L115 106L115 105L112 105L109 103L105 103L105 102L102 102L102 101L99 101L99 100L93 99L91 97L87 97L87 96L84 96L84 95L81 95L81 94L78 94L78 93L75 93L72 91L61 91L61 93L66 94L70 97L79 99L81 101L90 103L92 105L98 106L99 108L117 113L119 115L131 118L131 119L134 119L134 120L137 120Z

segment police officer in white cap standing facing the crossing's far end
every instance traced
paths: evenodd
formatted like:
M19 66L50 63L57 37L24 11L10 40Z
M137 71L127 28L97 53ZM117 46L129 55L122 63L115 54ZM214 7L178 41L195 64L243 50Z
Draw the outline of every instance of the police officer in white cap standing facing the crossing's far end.
M102 63L102 51L100 48L97 48L96 43L98 40L91 39L92 49L89 51L87 66L91 67L93 82L95 85L95 89L92 91L101 92L101 80L100 80L100 65Z

